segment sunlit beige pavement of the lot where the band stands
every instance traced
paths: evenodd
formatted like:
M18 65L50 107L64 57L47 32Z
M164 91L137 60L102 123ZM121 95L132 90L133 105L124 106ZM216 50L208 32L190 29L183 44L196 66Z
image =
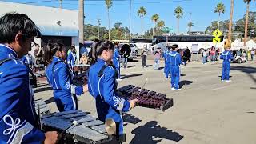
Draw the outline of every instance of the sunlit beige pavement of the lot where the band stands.
M180 144L254 144L256 143L256 66L255 62L231 64L232 82L221 82L222 63L190 62L182 66L182 90L170 90L170 80L163 70L153 70L154 61L147 67L141 62L128 62L121 69L122 82L174 98L174 106L162 112L135 107L128 114L124 131L125 143L180 143ZM163 62L161 62L161 67ZM162 68L161 68L162 69ZM50 87L40 81L35 97L46 100L51 112L57 111ZM78 109L90 112L97 118L94 98L89 93L79 97ZM133 122L134 121L134 122Z

